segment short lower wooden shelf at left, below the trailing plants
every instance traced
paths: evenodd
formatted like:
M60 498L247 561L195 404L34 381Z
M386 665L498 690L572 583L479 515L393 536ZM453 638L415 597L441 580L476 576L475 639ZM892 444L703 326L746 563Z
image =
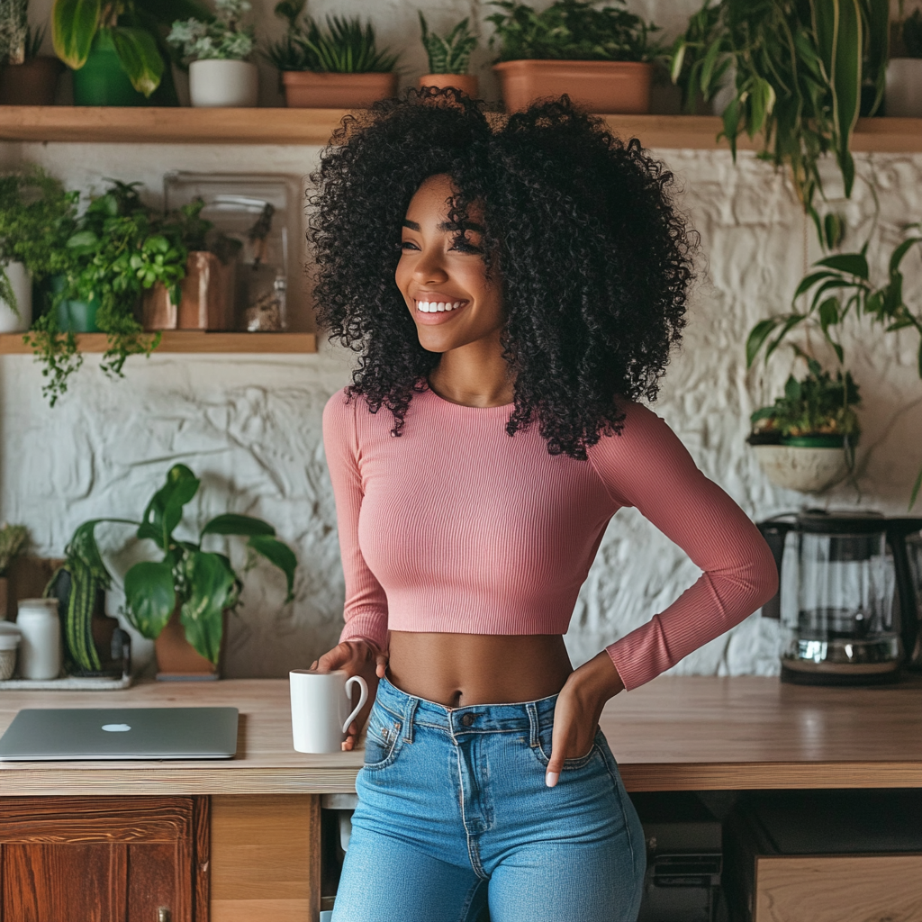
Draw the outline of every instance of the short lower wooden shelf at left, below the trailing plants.
M78 333L81 352L104 352L104 333ZM25 355L32 351L20 333L0 335L0 355ZM164 330L158 353L162 352L240 352L303 353L317 351L313 333L204 333L198 330Z

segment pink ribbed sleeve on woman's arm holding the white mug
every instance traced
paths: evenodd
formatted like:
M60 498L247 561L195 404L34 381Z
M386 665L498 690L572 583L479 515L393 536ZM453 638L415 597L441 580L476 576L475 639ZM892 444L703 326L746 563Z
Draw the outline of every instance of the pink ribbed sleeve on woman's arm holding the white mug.
M369 640L387 649L387 597L359 547L359 514L364 498L356 434L356 401L337 391L324 408L324 450L337 502L339 550L346 579L343 640Z

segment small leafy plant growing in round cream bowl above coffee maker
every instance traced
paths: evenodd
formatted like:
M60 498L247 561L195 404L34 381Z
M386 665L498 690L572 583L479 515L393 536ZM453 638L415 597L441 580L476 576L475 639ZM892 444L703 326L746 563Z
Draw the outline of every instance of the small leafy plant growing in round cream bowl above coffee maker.
M843 374L840 370L833 380L819 361L800 354L807 360L807 376L798 381L790 375L784 395L777 397L772 406L751 415L753 432L775 435L781 443L820 435L847 438L854 446L861 431L854 408L861 403L861 397L851 372Z

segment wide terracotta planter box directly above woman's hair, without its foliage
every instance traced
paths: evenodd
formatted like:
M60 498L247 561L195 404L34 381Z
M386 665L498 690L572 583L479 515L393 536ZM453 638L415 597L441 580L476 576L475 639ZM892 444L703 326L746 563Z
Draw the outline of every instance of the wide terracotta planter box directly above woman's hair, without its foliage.
M600 114L650 111L653 65L633 61L503 61L493 65L502 84L507 112L525 109L533 100L573 102Z

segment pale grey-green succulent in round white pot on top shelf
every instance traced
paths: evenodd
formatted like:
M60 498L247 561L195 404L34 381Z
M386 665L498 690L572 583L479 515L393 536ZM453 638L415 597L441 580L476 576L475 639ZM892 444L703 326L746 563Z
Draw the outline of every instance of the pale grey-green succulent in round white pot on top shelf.
M241 18L247 0L216 0L215 18L172 24L167 41L189 65L189 96L194 106L246 106L259 101L259 71L248 58L255 39Z

